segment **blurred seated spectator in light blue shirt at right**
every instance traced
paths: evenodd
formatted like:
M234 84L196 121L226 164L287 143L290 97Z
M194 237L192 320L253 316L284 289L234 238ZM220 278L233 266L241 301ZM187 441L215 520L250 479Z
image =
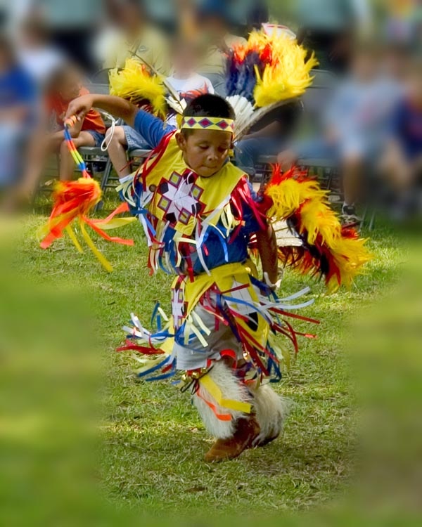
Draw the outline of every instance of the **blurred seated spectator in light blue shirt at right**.
M342 171L345 221L357 221L355 204L362 191L367 164L379 159L388 123L399 96L395 85L380 76L378 46L359 44L354 51L350 77L341 82L324 109L324 126L318 138L281 152L278 162L290 169L298 159L338 162Z

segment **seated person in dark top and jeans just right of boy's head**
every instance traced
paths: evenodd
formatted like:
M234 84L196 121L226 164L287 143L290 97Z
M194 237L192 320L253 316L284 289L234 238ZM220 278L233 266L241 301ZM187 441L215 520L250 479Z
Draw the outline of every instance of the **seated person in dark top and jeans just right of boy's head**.
M300 112L301 105L298 101L281 105L252 126L249 134L235 145L237 166L253 178L259 157L276 155L283 148Z

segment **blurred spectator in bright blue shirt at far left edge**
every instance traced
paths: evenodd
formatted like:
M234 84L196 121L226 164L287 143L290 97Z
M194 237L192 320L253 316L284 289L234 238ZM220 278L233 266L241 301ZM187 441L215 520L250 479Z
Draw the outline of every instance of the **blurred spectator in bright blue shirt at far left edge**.
M6 209L14 207L21 183L36 101L32 78L19 65L11 41L0 35L0 193L4 194L1 207Z

